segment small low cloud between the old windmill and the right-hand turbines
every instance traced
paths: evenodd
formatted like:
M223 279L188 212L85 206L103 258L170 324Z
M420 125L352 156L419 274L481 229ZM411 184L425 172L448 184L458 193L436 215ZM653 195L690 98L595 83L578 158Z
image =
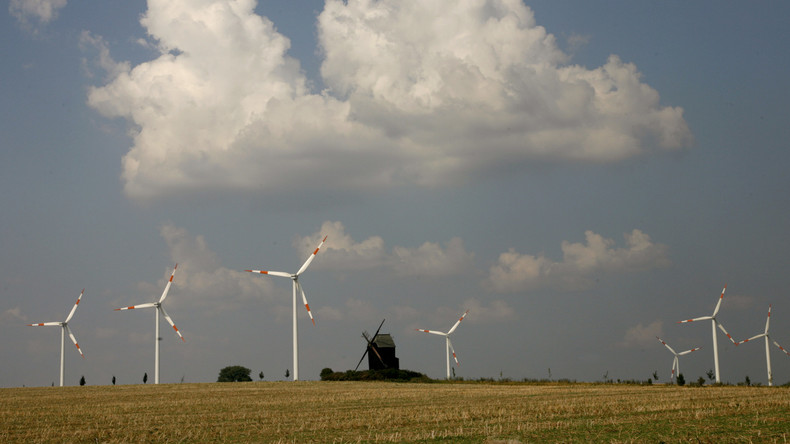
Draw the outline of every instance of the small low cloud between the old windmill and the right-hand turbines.
M538 287L582 290L596 277L632 273L670 264L667 247L656 244L640 230L624 235L625 248L614 248L612 239L585 232L586 243L562 242L562 262L544 255L520 254L511 249L499 256L489 272L489 284L498 292L515 293Z

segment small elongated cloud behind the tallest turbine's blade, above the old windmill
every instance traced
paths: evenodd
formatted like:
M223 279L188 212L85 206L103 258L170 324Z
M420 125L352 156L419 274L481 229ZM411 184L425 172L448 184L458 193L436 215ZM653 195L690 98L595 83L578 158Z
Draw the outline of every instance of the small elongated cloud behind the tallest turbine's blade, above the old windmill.
M294 246L307 257L322 236L327 236L321 253L326 258L317 266L325 269L353 271L383 267L401 276L451 276L469 272L474 266L474 254L466 251L460 238L450 239L444 247L425 242L419 247L395 246L388 252L380 236L356 242L346 234L341 222L324 222L318 232L296 239Z

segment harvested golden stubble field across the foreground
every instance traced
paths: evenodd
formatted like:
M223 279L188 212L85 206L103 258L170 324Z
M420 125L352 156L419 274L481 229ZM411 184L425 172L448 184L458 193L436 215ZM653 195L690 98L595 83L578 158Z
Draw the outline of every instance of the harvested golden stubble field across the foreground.
M0 389L0 442L787 442L785 387L257 382Z

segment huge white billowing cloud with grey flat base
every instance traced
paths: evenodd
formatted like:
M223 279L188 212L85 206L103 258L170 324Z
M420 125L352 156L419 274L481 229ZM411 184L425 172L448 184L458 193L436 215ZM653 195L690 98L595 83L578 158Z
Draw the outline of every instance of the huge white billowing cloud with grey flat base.
M150 0L160 55L91 89L132 124L134 198L224 188L446 185L529 162L612 162L691 135L616 56L567 65L517 0L329 0L311 92L253 0Z

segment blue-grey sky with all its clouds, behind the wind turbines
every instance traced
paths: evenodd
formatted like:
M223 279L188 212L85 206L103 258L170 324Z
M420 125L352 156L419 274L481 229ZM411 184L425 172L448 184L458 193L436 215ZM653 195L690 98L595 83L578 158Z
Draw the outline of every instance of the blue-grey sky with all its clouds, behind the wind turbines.
M0 386L242 365L687 380L790 347L785 2L10 0ZM767 383L719 334L722 381ZM762 341L762 340L761 340ZM756 343L755 343L756 342ZM790 356L771 346L776 384ZM257 377L255 378L257 379ZM150 382L150 380L149 380Z

